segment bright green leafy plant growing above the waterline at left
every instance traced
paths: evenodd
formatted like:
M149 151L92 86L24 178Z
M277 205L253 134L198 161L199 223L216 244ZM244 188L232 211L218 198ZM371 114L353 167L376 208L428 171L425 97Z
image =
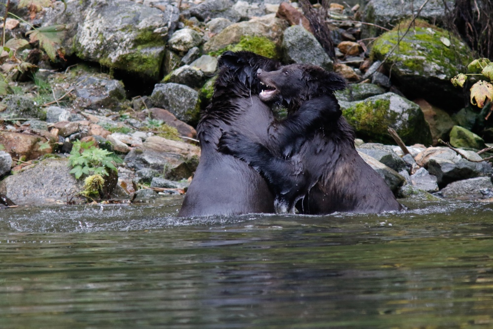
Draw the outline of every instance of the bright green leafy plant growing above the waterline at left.
M73 167L70 174L74 174L76 179L91 174L108 176L108 169L116 171L115 164L122 162L106 149L95 147L93 142L76 141L69 156L69 166Z

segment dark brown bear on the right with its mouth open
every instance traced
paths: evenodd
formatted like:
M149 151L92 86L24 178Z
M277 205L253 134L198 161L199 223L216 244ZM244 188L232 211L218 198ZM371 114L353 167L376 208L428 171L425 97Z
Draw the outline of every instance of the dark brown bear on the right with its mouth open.
M261 99L281 101L288 107L288 117L314 99L323 99L325 107L333 107L332 113L340 112L333 92L345 84L337 74L308 64L265 71L257 72L268 86ZM311 135L280 145L278 151L272 143L228 131L221 136L219 150L244 160L267 180L277 212L294 213L295 207L310 215L402 209L385 181L357 153L354 131L342 115L320 120L312 130Z

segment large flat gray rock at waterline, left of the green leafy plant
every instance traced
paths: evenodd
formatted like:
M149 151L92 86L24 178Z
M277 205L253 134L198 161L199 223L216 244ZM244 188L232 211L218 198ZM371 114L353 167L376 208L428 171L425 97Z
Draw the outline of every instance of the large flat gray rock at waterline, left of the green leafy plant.
M82 202L84 200L77 193L84 183L76 180L69 171L67 159L45 159L35 167L7 176L0 183L0 193L17 205Z

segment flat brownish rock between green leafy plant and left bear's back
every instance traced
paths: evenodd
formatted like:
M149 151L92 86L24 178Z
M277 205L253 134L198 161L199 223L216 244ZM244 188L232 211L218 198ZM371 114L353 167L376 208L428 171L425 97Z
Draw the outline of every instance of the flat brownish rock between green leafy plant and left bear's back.
M200 156L198 146L151 136L141 147L132 149L124 161L128 168L151 168L163 173L165 167L171 170L194 156Z

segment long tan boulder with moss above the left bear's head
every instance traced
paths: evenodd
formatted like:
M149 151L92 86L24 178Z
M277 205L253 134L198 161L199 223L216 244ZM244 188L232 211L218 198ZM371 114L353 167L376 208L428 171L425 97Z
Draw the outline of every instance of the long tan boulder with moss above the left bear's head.
M274 14L253 17L247 22L232 24L211 37L209 41L204 43L204 52L218 51L228 45L237 44L242 37L262 36L277 42L281 40L282 33L286 27L287 23L282 19L276 18Z

